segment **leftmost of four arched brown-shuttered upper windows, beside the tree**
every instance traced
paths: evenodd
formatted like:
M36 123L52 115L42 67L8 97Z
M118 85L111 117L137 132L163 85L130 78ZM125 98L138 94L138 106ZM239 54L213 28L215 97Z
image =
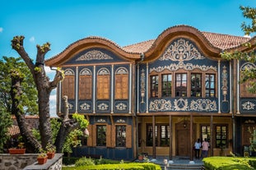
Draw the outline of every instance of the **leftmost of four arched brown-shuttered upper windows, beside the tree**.
M67 95L67 99L75 99L75 73L72 69L64 71L65 79L62 82L62 95Z

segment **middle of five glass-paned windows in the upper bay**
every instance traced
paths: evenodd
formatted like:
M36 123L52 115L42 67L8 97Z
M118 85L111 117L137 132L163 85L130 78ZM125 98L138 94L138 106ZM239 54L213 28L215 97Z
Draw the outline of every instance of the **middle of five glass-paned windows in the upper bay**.
M187 97L188 76L186 73L177 73L175 79L176 97Z

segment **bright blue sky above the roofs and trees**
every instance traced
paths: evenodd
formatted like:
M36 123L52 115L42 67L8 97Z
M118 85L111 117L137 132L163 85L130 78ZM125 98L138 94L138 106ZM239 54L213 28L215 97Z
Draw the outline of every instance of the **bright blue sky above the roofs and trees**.
M241 5L256 7L256 0L1 0L0 57L18 57L11 47L16 35L25 36L26 53L33 59L36 44L51 44L45 56L48 59L88 36L125 46L156 39L175 25L244 36L240 25L248 20ZM53 72L46 70L53 77ZM50 97L53 116L55 101L56 90Z

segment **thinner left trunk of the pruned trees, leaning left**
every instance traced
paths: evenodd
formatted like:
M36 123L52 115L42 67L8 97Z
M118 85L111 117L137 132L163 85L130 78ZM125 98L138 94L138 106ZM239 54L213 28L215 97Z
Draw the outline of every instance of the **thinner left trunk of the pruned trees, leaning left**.
M25 142L26 151L36 152L39 151L41 145L38 140L32 134L27 122L26 117L21 107L20 98L22 94L21 82L23 78L18 71L12 72L12 87L11 87L11 97L12 97L12 114L16 116L16 121L20 127L22 139Z

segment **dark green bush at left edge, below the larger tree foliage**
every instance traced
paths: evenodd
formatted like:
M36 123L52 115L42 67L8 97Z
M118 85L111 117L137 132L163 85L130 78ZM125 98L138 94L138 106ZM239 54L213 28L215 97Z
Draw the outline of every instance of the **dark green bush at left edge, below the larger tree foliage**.
M6 108L0 107L0 153L2 153L4 145L10 138L8 135L8 128L12 126L11 115L7 113Z

